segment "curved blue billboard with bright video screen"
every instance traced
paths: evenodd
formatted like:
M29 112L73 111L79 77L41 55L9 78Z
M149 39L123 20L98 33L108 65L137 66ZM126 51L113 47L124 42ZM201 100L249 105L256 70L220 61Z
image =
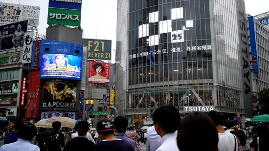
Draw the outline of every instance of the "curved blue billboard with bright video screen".
M81 80L82 45L62 41L41 41L39 45L40 78ZM36 43L34 48L38 49ZM35 58L37 52L33 55ZM35 65L36 63L33 63L33 68Z

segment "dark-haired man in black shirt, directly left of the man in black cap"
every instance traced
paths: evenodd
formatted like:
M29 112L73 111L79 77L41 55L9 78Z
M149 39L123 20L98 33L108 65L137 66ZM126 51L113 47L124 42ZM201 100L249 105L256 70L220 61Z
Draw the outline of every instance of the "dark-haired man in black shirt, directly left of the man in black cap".
M78 122L78 124L76 124L76 129L78 132L78 137L69 140L63 151L83 151L85 149L87 149L87 151L92 151L94 143L86 138L86 134L89 129L88 122Z

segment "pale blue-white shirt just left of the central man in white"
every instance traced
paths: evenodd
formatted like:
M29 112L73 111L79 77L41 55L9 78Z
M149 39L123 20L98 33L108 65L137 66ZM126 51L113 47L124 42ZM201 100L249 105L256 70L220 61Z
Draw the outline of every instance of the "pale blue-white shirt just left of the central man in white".
M160 139L160 135L157 134L154 126L147 129L147 144L146 151L156 151L159 146L157 146L157 141Z

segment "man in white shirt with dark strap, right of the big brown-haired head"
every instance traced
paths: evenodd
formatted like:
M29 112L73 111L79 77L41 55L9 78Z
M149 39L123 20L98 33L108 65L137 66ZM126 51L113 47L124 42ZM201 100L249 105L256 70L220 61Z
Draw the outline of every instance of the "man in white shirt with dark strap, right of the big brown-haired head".
M222 127L223 117L219 112L214 110L208 113L208 116L215 123L219 135L219 151L238 151L238 142L232 133L225 131Z

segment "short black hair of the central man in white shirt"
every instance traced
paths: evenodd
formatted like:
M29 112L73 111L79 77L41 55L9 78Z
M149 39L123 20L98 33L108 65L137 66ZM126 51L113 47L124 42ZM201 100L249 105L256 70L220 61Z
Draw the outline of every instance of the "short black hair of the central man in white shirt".
M163 105L153 113L153 121L157 123L166 133L175 132L180 122L179 110L172 105Z

